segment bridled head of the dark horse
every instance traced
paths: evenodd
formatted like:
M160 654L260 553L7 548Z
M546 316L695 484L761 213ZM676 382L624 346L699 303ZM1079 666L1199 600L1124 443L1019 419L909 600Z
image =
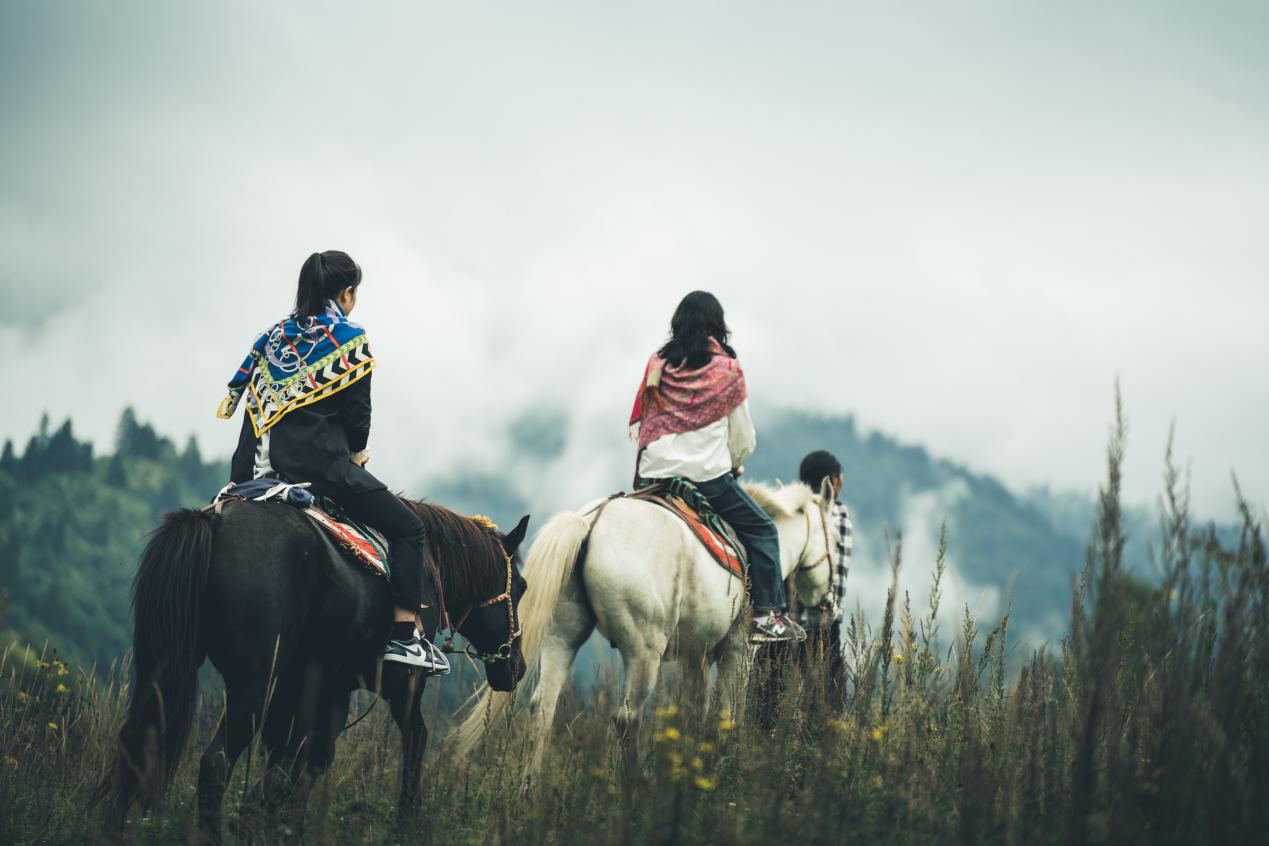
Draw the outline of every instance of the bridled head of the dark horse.
M520 517L505 535L499 535L506 571L497 592L476 602L459 624L468 641L468 653L485 662L485 676L494 690L510 691L524 677L520 653L520 597L528 586L520 575L520 543L529 528L529 515Z

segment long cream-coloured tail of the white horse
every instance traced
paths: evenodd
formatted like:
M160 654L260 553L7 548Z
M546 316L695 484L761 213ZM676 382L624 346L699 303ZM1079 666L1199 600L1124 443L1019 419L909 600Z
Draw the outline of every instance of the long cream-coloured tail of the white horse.
M542 648L542 638L555 615L563 586L572 578L581 545L590 534L590 521L580 514L557 514L542 526L524 561L524 578L529 586L520 597L520 651L524 662L533 667ZM457 729L458 748L463 755L480 742L487 726L506 712L510 694L486 687Z

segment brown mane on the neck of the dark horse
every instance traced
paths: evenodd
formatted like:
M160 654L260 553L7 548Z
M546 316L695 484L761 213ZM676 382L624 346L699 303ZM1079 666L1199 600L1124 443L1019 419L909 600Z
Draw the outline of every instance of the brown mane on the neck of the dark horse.
M506 558L497 531L440 505L405 497L401 501L428 530L428 545L448 602L481 600L492 587L505 583Z

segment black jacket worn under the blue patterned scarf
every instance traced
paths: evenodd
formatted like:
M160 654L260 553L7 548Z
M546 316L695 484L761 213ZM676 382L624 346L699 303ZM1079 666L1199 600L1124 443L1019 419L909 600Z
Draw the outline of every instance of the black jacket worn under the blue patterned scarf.
M320 496L339 500L387 486L353 463L371 436L371 377L364 377L311 406L294 408L269 430L269 463L288 482L311 482ZM259 440L247 415L230 462L230 476L245 482L255 473Z

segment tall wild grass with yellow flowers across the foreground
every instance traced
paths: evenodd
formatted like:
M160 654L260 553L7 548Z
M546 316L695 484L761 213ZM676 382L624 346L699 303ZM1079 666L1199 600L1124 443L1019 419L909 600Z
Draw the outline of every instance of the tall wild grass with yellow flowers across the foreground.
M832 699L817 656L780 668L772 731L760 728L755 695L735 722L662 696L641 746L642 772L629 780L610 693L570 691L528 791L519 722L472 760L434 742L425 810L409 824L393 818L396 729L372 714L340 742L303 840L1265 842L1269 564L1260 521L1235 486L1235 544L1192 525L1169 449L1159 572L1134 575L1123 561L1123 449L1117 410L1096 525L1056 648L1016 654L1008 614L983 623L968 609L944 639L940 544L928 608L914 616L892 587L877 628L862 614L848 620L844 698ZM901 558L896 538L896 573ZM122 719L126 672L76 676L56 660L11 652L0 661L0 842L95 837L88 797ZM754 675L763 672L759 663ZM208 703L194 750L217 714ZM434 727L447 722L435 715ZM187 755L164 810L131 821L135 842L190 836L197 755ZM240 762L231 816L246 772Z

